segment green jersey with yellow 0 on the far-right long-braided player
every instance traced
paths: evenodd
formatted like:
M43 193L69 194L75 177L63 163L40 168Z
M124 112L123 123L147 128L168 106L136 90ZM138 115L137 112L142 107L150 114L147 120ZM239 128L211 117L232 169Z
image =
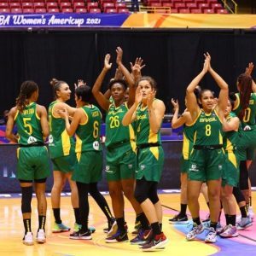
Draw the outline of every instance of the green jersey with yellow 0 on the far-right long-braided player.
M241 102L240 102L240 93L236 93L236 99L237 104L233 111L238 116L241 111ZM241 126L245 127L246 125L255 126L256 122L256 93L252 93L250 100L249 100L249 106L246 108L244 117L241 119Z

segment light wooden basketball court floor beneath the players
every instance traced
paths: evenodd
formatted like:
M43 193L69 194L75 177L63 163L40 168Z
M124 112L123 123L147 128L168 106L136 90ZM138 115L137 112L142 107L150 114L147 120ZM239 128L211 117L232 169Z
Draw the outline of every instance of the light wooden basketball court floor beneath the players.
M255 192L254 192L255 193ZM255 197L255 194L253 195ZM106 195L108 203L110 204L109 195ZM20 212L20 198L10 198L10 199L0 199L0 256L8 255L39 255L39 256L73 256L73 255L108 255L108 256L125 256L125 255L142 255L142 251L136 245L130 245L129 242L125 243L105 243L105 234L103 233L103 228L107 226L107 220L103 215L99 207L97 207L95 201L90 197L90 225L96 227L96 232L93 234L91 241L73 241L68 238L68 232L60 234L51 233L51 225L54 222L53 214L50 209L50 199L48 197L47 211L47 242L45 244L37 244L34 246L25 246L22 244L23 236L23 223L21 219ZM177 212L175 210L179 209L179 194L162 194L160 195L160 200L163 205L164 218L163 218L163 230L166 236L169 238L169 244L166 246L165 250L160 250L160 252L154 252L160 255L212 255L217 253L218 255L230 255L232 253L233 244L236 244L236 249L240 248L240 240L232 239L223 245L224 239L218 239L219 241L214 245L206 244L204 241L185 241L184 229L187 229L188 225L179 225L183 227L178 227L177 225L172 225L168 223L168 218L171 218ZM110 204L111 205L111 204ZM256 201L253 203L254 212L256 212ZM32 199L32 231L35 236L38 228L38 217L36 210L36 199ZM201 216L204 217L207 214L207 205L201 198ZM74 217L73 208L70 204L70 197L64 196L61 198L61 218L64 224L73 227ZM131 204L125 201L125 220L128 224L129 238L131 231L133 230L135 213L131 208ZM246 248L250 248L251 253L249 255L256 255L256 231L255 224L251 230L247 230L249 233L245 233L245 237L250 239L244 239L244 243L247 245ZM189 229L189 227L188 227ZM253 237L253 238L252 238ZM229 244L231 242L231 244ZM244 244L242 244L241 248ZM230 251L227 251L227 247L230 247ZM245 251L236 255L245 255Z

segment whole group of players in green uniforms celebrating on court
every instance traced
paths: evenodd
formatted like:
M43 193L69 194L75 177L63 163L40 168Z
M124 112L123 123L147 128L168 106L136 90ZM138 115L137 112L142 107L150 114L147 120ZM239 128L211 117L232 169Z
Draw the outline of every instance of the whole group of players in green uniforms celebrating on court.
M124 195L136 213L135 232L131 244L143 251L164 249L168 242L162 230L162 208L157 186L164 165L160 126L165 104L155 98L156 83L142 76L143 60L131 63L131 73L122 63L123 51L116 49L118 65L108 90L101 92L105 75L112 67L110 55L104 59L102 72L90 86L79 80L75 86L76 108L67 104L71 90L66 82L52 79L55 101L48 113L38 105L38 85L33 81L21 84L16 106L9 112L6 137L19 144L16 177L21 188L21 212L25 235L23 243L33 244L31 229L32 183L38 199L38 230L36 241L44 243L46 197L45 183L49 177L49 158L53 165L54 184L51 203L55 223L52 232L69 231L61 221L61 189L66 181L71 188L75 224L70 239L92 239L93 227L88 225L88 193L107 218L107 243L129 241L125 223ZM181 212L170 219L172 223L188 221L189 206L193 227L186 235L195 239L204 229L209 231L206 242L215 242L217 235L238 236L236 230L236 201L241 209L237 229L252 225L247 208L250 201L248 161L256 148L256 86L250 74L238 79L239 93L229 99L229 87L211 66L211 56L205 55L201 73L186 91L187 109L178 116L178 103L172 100L172 127L183 125L183 158L181 166ZM210 73L220 89L218 100L211 90L198 87ZM128 85L128 86L127 86ZM102 179L102 142L100 138L102 113L92 104L93 97L106 111L106 172L113 213L97 189ZM231 112L233 109L233 112ZM18 133L14 134L14 126ZM75 139L74 139L75 137ZM48 138L49 153L44 142ZM198 197L207 183L209 221L201 223ZM234 196L236 197L236 201ZM218 218L224 207L226 226L218 228Z

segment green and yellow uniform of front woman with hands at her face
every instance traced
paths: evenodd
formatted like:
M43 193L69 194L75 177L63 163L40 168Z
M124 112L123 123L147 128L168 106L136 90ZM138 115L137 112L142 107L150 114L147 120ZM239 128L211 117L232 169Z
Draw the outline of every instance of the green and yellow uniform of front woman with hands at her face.
M155 101L158 101L155 99ZM150 130L148 107L140 104L137 108L134 122L137 143L137 173L136 178L160 182L164 166L164 150L161 146L160 131Z

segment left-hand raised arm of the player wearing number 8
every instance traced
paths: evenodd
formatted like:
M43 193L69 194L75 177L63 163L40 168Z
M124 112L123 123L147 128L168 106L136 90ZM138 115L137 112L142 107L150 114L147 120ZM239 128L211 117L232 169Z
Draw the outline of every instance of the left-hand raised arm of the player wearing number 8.
M187 100L187 108L189 110L189 113L191 114L192 120L195 120L199 111L200 107L198 106L196 96L195 96L195 87L200 83L201 79L205 76L205 74L208 71L209 67L209 62L210 58L205 55L205 62L204 62L204 67L201 70L201 73L199 73L195 79L191 81L189 86L187 87L186 90L186 100Z

